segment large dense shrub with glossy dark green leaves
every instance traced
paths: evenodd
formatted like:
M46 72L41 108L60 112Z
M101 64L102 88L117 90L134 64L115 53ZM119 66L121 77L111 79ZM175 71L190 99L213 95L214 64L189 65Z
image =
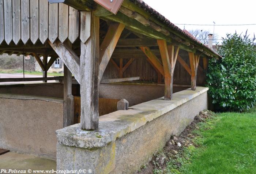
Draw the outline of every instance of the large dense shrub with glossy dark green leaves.
M243 111L256 103L256 47L248 35L227 34L218 53L211 59L207 86L215 109Z

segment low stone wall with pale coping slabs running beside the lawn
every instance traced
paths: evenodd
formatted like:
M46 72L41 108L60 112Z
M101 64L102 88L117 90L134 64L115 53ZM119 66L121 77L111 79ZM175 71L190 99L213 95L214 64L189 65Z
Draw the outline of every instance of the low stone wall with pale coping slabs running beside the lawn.
M95 131L81 130L80 124L57 130L57 170L135 173L208 108L207 90L184 90L171 101L158 98L101 116Z

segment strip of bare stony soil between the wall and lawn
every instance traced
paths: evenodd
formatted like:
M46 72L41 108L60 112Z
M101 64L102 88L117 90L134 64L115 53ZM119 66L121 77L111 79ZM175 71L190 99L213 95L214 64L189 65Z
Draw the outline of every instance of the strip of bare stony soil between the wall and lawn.
M210 118L214 113L209 110L201 111L197 115L193 122L188 125L185 130L179 136L171 136L170 140L167 141L163 150L159 151L152 160L147 164L141 167L140 171L136 174L152 174L158 173L157 170L165 169L166 163L169 159L176 159L176 155L183 150L183 147L196 147L196 144L192 143L192 139L195 137L193 135L193 130L199 129L197 123L204 122L207 118ZM180 163L175 163L176 166L181 166Z

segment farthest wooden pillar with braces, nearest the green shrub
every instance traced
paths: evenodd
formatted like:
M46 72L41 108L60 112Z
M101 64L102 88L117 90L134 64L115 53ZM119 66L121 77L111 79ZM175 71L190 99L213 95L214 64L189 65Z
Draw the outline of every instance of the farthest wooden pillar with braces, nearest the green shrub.
M196 75L197 75L197 67L199 64L200 56L195 55L193 52L188 53L189 63L191 68L191 90L196 90Z

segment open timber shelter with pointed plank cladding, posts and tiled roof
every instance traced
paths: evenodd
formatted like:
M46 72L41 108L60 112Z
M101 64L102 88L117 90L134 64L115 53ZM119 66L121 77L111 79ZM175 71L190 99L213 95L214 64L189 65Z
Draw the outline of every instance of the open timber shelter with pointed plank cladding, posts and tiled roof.
M208 58L221 58L141 0L0 0L3 53L33 55L44 77L62 58L64 125L74 123L74 75L87 130L98 129L101 80L164 84L171 100L174 85L195 90L205 83Z

